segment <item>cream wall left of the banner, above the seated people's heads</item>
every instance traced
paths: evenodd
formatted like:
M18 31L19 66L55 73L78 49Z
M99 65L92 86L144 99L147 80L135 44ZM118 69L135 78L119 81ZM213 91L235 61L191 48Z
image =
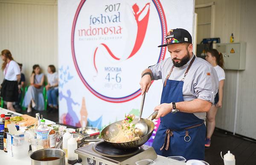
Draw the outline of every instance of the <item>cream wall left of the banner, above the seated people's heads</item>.
M58 67L57 26L56 0L0 0L0 51L12 52L27 80L34 64Z

